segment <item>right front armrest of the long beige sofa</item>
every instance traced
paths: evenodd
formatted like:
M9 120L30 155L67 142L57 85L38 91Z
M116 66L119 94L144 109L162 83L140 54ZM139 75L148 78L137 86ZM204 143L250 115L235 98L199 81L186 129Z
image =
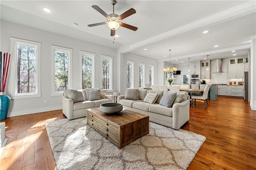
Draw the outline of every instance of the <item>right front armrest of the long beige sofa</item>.
M190 100L175 103L172 106L172 127L179 129L189 120Z

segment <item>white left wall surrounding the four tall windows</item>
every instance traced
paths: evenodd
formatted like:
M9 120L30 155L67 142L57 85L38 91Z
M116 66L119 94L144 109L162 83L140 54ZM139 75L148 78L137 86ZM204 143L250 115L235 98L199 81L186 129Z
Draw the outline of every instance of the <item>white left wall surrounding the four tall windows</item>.
M10 23L1 20L1 46L0 51L10 52L10 37L20 38L24 40L30 40L42 43L41 46L41 93L42 97L26 98L26 99L12 99L10 104L10 110L8 117L16 115L24 115L29 113L38 113L43 111L50 111L56 109L62 109L61 96L51 96L51 45L57 45L61 47L68 47L73 49L73 82L72 89L81 88L80 76L79 76L79 52L88 51L96 53L96 87L101 86L100 75L100 55L108 55L114 57L113 65L116 62L116 50L100 45L83 42L73 38L52 34L42 30L36 30L26 26ZM12 54L14 55L14 54ZM10 69L14 69L14 65L10 65ZM113 90L117 87L117 71L116 67L113 67ZM10 70L9 70L10 71ZM6 86L6 94L10 95L10 77ZM44 104L44 100L47 103Z

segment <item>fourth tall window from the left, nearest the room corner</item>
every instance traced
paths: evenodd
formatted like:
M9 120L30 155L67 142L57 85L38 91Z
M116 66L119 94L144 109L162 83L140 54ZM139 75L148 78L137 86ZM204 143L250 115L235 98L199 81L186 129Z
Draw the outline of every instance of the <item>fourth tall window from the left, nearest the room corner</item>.
M102 55L102 89L112 89L113 57Z

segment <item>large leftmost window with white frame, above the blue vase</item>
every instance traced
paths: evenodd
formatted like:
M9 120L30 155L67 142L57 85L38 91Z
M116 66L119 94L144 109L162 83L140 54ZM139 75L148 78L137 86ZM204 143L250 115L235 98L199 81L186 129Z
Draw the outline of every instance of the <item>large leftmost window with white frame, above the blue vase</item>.
M14 54L14 64L10 64L14 65L10 69L14 82L11 83L12 99L41 97L41 43L17 38L10 38L10 42Z

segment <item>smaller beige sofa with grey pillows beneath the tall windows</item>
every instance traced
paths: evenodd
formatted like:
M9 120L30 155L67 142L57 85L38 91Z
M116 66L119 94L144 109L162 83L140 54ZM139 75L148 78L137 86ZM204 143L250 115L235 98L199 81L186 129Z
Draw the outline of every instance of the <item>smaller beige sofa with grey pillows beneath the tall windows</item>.
M65 89L62 94L62 112L69 120L72 120L87 116L87 109L100 107L102 103L113 102L114 96L106 95L106 90Z

